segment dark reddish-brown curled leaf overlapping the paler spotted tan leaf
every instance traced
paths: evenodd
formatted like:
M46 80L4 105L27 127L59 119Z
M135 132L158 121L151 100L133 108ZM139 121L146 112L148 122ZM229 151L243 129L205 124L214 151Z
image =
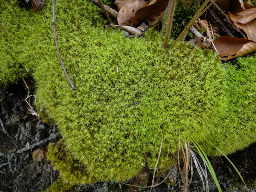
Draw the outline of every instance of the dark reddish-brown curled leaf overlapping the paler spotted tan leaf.
M169 0L153 0L148 6L139 9L131 20L131 26L137 27L140 22L150 23L157 20L162 12L166 9ZM151 4L152 3L152 4Z

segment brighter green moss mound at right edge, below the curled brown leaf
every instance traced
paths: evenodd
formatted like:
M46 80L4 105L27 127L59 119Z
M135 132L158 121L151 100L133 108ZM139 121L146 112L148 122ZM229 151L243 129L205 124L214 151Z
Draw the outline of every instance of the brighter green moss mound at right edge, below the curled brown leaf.
M238 58L236 65L228 63L228 77L225 79L229 87L229 103L226 115L221 118L211 130L214 137L205 139L217 146L224 154L244 148L256 141L256 58ZM221 153L207 145L206 154L221 155ZM214 152L213 152L214 151Z

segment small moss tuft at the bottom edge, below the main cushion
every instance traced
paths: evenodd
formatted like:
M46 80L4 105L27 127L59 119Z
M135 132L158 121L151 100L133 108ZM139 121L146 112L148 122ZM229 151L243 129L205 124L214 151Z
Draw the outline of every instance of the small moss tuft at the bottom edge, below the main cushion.
M59 177L52 185L50 185L45 191L41 192L73 192L73 185L66 183Z

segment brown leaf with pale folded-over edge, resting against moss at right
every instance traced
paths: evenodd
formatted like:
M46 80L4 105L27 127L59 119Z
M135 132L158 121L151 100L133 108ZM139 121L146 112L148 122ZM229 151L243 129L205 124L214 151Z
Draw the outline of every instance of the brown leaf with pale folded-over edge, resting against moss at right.
M249 54L256 50L256 43L249 39L221 36L213 41L221 60L229 60Z

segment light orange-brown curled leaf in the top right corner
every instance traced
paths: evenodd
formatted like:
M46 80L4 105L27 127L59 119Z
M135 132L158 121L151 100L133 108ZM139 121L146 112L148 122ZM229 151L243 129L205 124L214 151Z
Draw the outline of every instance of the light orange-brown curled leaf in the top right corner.
M242 29L248 39L256 42L256 7L249 0L244 4L244 8L243 12L228 12L228 14L235 26Z

